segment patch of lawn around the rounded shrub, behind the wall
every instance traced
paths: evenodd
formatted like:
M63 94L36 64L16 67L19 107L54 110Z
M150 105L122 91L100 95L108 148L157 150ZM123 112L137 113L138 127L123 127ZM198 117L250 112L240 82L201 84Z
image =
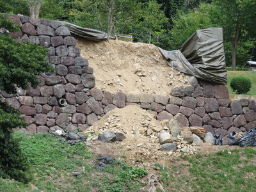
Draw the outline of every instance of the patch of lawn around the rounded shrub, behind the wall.
M230 87L232 78L236 76L249 77L252 80L252 88L246 95L256 95L256 71L228 71L227 87L229 94L236 94L236 92L233 92L232 88Z

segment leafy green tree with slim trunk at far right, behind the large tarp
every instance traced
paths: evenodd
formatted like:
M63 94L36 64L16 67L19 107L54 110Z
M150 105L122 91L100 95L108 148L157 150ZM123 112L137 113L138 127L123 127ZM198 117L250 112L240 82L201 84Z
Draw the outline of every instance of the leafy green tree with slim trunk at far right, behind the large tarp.
M256 1L212 0L216 22L223 27L224 39L232 44L232 70L236 70L237 47L255 38ZM254 39L255 40L255 39Z

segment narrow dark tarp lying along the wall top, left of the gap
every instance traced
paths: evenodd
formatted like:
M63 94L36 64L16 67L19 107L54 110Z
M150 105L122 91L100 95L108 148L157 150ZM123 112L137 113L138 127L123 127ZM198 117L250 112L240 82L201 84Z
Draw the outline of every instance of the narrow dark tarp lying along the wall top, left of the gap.
M99 41L108 39L108 34L104 31L99 31L97 29L82 28L66 21L61 21L61 24L63 26L66 26L71 33L74 33L83 38L87 38L89 40Z

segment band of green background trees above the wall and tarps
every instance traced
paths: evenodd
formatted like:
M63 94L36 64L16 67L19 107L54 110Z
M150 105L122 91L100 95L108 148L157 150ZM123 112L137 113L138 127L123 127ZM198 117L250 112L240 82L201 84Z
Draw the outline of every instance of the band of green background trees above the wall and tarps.
M29 2L2 0L0 12L29 15ZM196 29L223 28L227 65L255 56L255 0L40 0L40 18L132 35L134 42L178 49Z

